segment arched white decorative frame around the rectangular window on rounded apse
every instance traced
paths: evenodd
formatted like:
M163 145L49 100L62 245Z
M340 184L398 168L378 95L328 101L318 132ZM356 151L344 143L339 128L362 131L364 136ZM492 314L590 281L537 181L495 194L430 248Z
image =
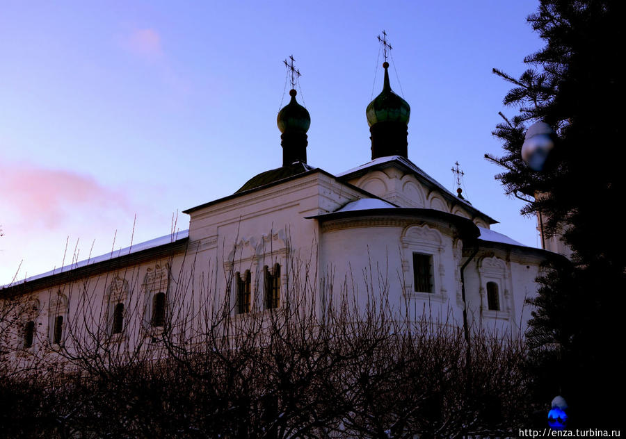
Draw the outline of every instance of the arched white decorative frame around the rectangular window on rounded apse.
M442 264L444 253L443 236L437 229L426 224L411 224L401 234L402 271L404 278L404 294L406 297L425 301L444 302L448 299L445 288L445 267ZM413 288L413 254L431 256L433 292L416 292ZM410 281L407 282L407 279Z

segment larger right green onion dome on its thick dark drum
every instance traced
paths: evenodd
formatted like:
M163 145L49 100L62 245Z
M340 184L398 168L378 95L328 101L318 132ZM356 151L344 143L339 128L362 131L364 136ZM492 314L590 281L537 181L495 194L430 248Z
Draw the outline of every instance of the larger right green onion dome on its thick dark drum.
M365 110L371 133L372 160L385 156L407 157L407 126L411 108L407 101L392 91L387 61L383 63L383 68L385 69L383 91Z

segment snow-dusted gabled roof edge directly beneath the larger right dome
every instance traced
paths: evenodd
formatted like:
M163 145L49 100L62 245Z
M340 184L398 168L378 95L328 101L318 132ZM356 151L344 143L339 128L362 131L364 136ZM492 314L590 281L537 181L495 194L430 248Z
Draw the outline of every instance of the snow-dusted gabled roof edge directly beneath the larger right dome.
M463 198L457 197L455 194L447 190L441 183L433 179L433 177L426 174L426 172L424 172L422 168L415 165L415 163L413 163L411 160L403 156L386 156L386 157L375 158L374 160L364 163L363 165L360 165L358 167L353 167L352 169L348 169L346 172L341 172L337 174L337 178L342 181L347 181L348 179L353 179L355 177L366 174L372 168L378 167L380 169L383 169L385 167L391 166L392 163L399 164L401 165L401 167L403 167L407 171L412 172L412 174L414 174L415 177L419 181L426 183L426 185L435 186L435 188L438 188L442 196L448 199L448 201L462 205L466 210L469 210L471 213L473 213L476 216L482 217L487 222L489 222L489 224L496 224L498 222L497 220L493 219L489 215L482 213L480 210L472 206L472 204L470 204L469 201Z

